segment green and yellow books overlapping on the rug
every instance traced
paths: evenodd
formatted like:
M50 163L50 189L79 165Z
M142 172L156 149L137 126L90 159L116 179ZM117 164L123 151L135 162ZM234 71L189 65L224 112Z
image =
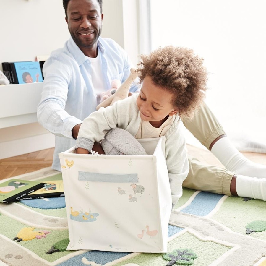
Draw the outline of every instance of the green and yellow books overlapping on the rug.
M2 203L48 197L64 197L62 180L38 182L9 179L0 183L0 202Z

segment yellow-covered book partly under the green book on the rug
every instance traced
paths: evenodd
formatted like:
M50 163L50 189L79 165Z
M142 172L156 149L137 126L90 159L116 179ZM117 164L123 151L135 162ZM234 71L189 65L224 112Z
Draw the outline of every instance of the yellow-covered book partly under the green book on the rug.
M63 180L45 181L45 185L19 200L43 199L52 197L64 197Z

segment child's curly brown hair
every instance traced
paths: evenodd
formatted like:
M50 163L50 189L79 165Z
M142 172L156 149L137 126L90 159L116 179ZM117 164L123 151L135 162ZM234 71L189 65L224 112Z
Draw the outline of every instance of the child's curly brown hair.
M172 92L172 105L178 108L179 116L192 119L207 89L207 71L202 63L192 49L166 46L141 55L136 71L140 82L148 76L155 85Z

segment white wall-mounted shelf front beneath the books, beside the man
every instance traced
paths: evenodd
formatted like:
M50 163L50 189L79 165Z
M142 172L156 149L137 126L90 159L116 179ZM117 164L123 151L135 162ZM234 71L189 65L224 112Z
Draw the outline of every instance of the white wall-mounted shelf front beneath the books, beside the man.
M0 86L0 128L37 122L43 82Z

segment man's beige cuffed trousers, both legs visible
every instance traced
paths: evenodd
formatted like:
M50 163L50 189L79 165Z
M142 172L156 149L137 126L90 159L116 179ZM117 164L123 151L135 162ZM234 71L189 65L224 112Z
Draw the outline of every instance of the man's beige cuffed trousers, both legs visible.
M183 123L207 149L209 149L213 140L226 134L206 104L202 104L193 120L184 120ZM184 187L216 194L231 195L230 185L235 173L221 167L204 165L190 155L188 159L189 174L183 182Z

